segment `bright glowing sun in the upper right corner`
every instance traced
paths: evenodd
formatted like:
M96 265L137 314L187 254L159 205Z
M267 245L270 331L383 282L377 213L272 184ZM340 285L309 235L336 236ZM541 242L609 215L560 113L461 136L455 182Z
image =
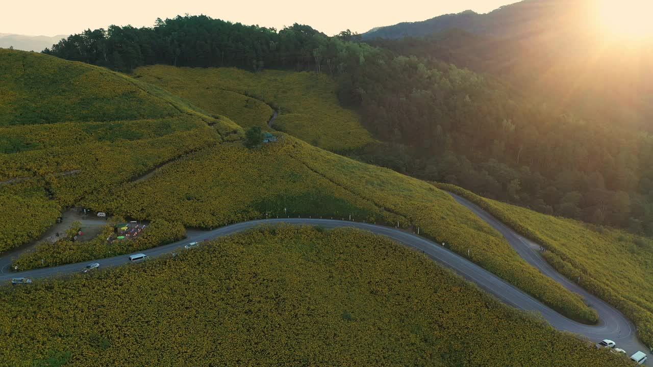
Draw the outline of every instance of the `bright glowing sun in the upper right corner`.
M602 31L620 39L653 38L653 0L596 0Z

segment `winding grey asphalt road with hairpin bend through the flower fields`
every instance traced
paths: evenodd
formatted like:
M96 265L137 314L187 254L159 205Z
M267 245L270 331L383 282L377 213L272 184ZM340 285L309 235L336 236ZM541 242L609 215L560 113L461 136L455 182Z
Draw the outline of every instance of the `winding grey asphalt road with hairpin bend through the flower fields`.
M461 200L461 198L456 197L456 200ZM492 217L483 212L478 212L480 208L474 208L473 204L469 202L463 202L465 206L468 206L475 213L479 214L482 219L488 221L492 227L495 227L500 232L507 236L508 241L522 254L522 250L528 247L528 242L520 238L515 232L503 227L501 223L496 222ZM494 221L495 223L492 223ZM464 278L472 281L473 283L479 285L482 289L488 293L496 296L498 299L502 300L506 304L509 304L515 308L528 311L536 311L541 313L543 317L549 321L550 325L558 330L565 330L573 332L574 334L579 334L586 336L590 340L598 341L603 339L612 339L617 342L618 347L622 347L628 351L629 355L634 353L637 350L646 351L646 347L637 340L635 335L635 328L633 325L626 319L619 311L615 310L602 300L588 295L584 290L575 286L573 283L567 281L567 279L561 278L557 279L555 276L559 276L552 269L553 275L549 275L549 270L545 274L552 276L552 278L559 280L560 283L569 287L572 291L575 291L582 296L586 297L590 305L596 308L599 316L601 317L601 322L598 325L584 325L577 323L570 319L567 319L560 313L550 309L548 306L545 306L539 300L536 300L530 295L527 295L520 289L517 289L513 285L507 283L498 276L488 272L481 266L471 263L464 257L449 251L445 247L439 246L438 244L426 240L415 234L400 231L398 229L383 227L381 225L374 225L371 223L360 223L353 221L340 221L334 219L308 219L308 218L283 218L283 219L261 219L255 221L246 221L242 223L236 223L233 225L228 225L226 227L221 227L219 229L214 229L212 231L199 232L197 234L189 236L185 240L174 242L165 246L154 247L145 251L141 251L150 257L157 257L166 253L171 253L174 251L182 250L183 246L189 244L190 242L211 240L221 236L229 236L237 232L242 232L247 229L259 227L261 225L274 225L279 223L287 223L291 225L319 225L324 228L342 228L342 227L351 227L357 229L364 229L366 231L373 232L375 234L380 234L382 236L387 236L392 240L400 242L409 247L413 247L420 251L423 251L424 254L428 255L438 263L441 263L463 276ZM523 242L523 245L519 244ZM108 266L118 266L121 264L128 263L127 255L119 255L116 257L109 257L106 259L99 260L101 268L106 268ZM526 261L534 261L537 268L542 266L543 269L546 268L546 263L540 264L537 259L537 253L534 253L534 256L525 257ZM539 258L541 259L541 258ZM529 263L531 262L529 261ZM76 263L76 264L67 264L62 266L56 266L52 268L42 268L35 270L27 270L25 272L16 272L13 274L0 274L0 282L5 282L10 280L12 277L25 277L25 278L45 278L56 275L65 275L65 274L74 274L80 272L82 268L90 262ZM618 336L620 333L620 336Z

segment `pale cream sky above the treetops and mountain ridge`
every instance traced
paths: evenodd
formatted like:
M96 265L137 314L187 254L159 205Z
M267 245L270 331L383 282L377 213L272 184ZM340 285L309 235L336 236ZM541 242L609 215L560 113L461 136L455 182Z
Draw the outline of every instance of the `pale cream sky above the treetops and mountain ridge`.
M308 24L328 35L343 29L362 33L379 25L426 20L471 9L488 12L517 0L2 0L0 33L54 36L106 28L110 24L151 26L157 17L206 14L212 18L281 29ZM317 7L317 5L323 5Z

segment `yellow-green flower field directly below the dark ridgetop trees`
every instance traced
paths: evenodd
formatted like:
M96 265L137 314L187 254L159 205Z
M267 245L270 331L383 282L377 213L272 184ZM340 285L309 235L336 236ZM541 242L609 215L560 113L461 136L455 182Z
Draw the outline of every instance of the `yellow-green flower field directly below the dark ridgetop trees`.
M373 141L358 114L340 106L336 82L324 74L155 65L134 75L243 127L265 126L272 110L263 101L279 110L275 129L320 148L355 150Z

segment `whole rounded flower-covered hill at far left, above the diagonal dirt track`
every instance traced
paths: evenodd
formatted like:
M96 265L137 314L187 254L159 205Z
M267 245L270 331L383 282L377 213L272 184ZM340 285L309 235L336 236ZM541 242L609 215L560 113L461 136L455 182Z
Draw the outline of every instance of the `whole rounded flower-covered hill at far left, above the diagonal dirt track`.
M99 67L14 50L0 50L0 65L0 251L37 238L100 187L242 133Z

